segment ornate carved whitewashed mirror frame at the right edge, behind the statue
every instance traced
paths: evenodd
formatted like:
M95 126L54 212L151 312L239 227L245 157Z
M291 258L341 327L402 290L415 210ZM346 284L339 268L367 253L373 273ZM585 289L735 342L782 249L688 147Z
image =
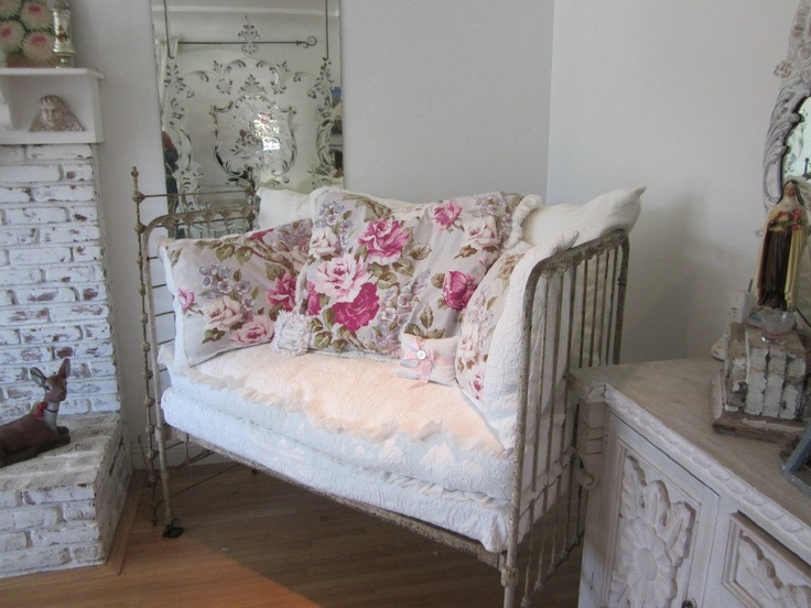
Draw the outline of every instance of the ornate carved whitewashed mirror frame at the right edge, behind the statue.
M764 153L764 207L768 211L782 195L783 158L791 129L801 120L799 109L811 96L811 0L800 0L789 34L786 59L775 68L780 93L771 112Z

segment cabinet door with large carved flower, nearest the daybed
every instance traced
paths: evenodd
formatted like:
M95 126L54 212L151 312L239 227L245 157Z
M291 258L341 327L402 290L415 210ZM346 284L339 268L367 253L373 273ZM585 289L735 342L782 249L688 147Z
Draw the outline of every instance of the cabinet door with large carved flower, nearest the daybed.
M679 607L703 596L717 497L610 416L601 504L586 529L597 606ZM586 574L586 573L584 573Z

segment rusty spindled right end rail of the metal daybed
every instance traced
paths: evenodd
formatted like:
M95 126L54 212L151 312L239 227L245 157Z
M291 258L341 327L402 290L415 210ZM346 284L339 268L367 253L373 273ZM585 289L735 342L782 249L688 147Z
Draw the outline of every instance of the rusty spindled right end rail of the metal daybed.
M551 368L551 372L540 379L539 387L528 384L523 389L520 420L525 424L519 427L517 444L525 444L527 455L517 463L519 468L532 470L530 496L523 500L533 523L520 543L519 526L512 529L511 546L501 567L506 608L516 601L509 584L520 579L520 606L529 607L530 599L542 591L545 580L583 535L587 492L577 482L578 412L576 400L565 390L566 371L619 360L629 247L627 237L619 232L608 241L612 245L602 249L593 250L586 245L572 250L572 256L541 262L525 294L525 351L534 351L540 369ZM532 311L538 301L545 302L540 314ZM533 339L540 344L533 346ZM527 358L525 366L529 361ZM525 369L525 377L531 378L529 369ZM532 416L532 411L544 403L550 408L545 433L541 416ZM560 428L555 423L559 417L563 419ZM560 458L556 462L555 455ZM543 462L545 467L541 470L539 464ZM516 519L523 510L523 501L516 498L525 491L519 488L522 477L523 471L517 470L512 510ZM536 524L538 517L540 522Z

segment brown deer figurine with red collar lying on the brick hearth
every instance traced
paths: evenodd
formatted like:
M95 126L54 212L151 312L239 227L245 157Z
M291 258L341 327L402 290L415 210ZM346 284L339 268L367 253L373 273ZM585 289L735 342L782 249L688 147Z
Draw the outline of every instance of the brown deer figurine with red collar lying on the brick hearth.
M71 359L62 361L60 371L53 376L45 376L37 368L31 369L34 382L45 391L45 395L31 412L0 426L0 467L28 460L71 443L67 427L56 425L60 403L67 397L69 374Z

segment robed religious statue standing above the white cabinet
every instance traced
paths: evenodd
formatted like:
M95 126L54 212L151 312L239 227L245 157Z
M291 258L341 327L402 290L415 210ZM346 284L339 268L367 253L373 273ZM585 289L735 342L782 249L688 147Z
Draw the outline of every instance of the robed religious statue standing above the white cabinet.
M755 276L758 304L781 311L796 308L797 278L808 235L808 214L798 183L789 180L766 218Z

